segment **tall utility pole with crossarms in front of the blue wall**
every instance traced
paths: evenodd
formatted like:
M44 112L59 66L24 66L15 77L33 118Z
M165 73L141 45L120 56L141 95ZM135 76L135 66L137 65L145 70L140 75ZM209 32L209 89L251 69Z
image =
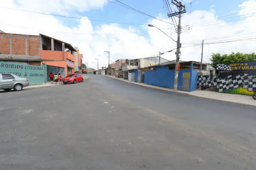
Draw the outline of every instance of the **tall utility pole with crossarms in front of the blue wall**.
M186 7L182 4L181 1L172 0L172 3L177 6L178 12L172 13L168 15L168 17L174 17L178 15L178 37L177 37L177 51L176 51L176 66L175 66L175 82L174 82L174 89L177 90L178 86L178 62L180 56L180 32L181 32L181 14L186 13Z

